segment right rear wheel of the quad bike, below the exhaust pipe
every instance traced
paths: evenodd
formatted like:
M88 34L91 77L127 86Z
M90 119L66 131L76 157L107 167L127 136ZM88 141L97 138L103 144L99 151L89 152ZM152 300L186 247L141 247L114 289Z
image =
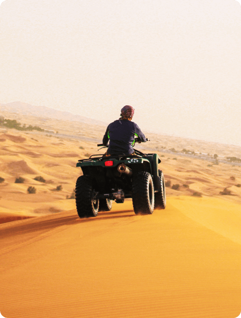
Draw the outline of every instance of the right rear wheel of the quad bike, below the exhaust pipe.
M132 203L135 214L152 214L154 186L149 172L139 172L132 178Z

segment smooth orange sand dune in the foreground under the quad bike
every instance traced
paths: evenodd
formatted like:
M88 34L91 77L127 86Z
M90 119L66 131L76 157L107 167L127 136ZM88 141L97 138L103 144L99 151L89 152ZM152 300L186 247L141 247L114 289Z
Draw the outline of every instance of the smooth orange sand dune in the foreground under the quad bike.
M97 218L71 210L0 225L0 312L236 318L240 218L228 201L180 197L150 216L135 216L126 201Z

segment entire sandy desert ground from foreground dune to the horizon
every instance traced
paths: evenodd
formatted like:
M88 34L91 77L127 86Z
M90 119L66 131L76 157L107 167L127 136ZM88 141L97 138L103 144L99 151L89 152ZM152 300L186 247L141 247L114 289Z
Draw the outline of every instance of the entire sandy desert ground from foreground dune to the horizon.
M76 162L101 153L106 127L44 123L58 133L0 131L3 317L240 315L241 166L225 158L241 158L241 147L150 133L136 148L162 159L166 209L136 216L125 200L80 219Z

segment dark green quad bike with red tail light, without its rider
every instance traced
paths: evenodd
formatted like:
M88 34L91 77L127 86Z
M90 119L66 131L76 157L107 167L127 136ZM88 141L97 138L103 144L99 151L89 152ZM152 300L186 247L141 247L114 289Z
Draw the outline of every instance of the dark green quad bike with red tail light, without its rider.
M143 154L136 149L134 155L92 155L78 160L76 166L83 171L75 187L78 216L96 217L99 211L111 211L112 200L123 203L127 198L132 198L135 214L165 209L165 180L158 170L160 162L157 154Z

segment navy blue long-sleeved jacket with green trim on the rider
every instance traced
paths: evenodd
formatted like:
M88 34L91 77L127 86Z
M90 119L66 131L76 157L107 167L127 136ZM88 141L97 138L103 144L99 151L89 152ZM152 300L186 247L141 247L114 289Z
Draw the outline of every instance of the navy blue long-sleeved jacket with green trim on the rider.
M110 139L107 151L109 154L124 153L125 155L129 155L134 152L134 138L137 137L139 137L142 142L146 142L146 137L135 123L127 119L119 119L107 127L103 137L103 145L107 146Z

